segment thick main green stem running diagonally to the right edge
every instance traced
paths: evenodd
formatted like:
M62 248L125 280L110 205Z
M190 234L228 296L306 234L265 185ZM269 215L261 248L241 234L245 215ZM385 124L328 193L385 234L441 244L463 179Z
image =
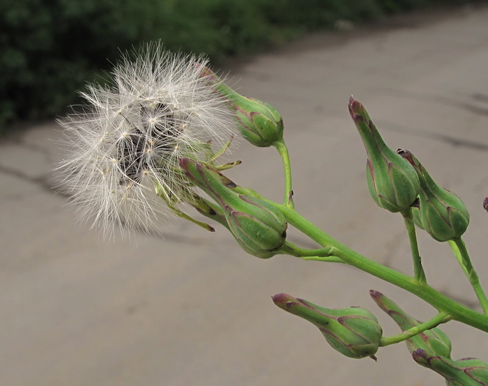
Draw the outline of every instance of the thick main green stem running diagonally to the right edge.
M268 202L272 203L283 213L289 224L295 226L296 229L312 238L312 240L318 242L319 245L322 247L333 247L330 251L331 256L337 256L346 263L349 263L349 265L353 265L354 267L363 270L370 275L388 281L399 288L404 288L404 290L413 293L413 295L416 295L418 298L431 304L438 311L450 315L452 319L456 321L466 323L467 325L471 325L479 330L488 332L487 316L473 311L468 307L464 307L462 304L459 304L439 291L436 291L431 286L419 283L413 277L404 275L396 270L392 270L385 265L358 254L358 252L349 249L345 245L342 245L333 237L321 231L321 229L319 229L317 226L314 226L314 224L308 222L307 219L298 215L295 210L287 208L287 206L273 203L273 201Z

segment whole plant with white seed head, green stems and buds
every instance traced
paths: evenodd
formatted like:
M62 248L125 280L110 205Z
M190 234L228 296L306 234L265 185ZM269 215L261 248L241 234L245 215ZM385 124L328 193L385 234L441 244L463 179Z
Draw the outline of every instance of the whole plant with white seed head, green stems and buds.
M440 187L408 150L388 148L360 102L351 97L348 107L366 150L369 193L380 208L402 216L411 246L412 275L346 247L298 213L282 116L266 102L232 90L206 59L171 54L159 43L151 43L132 56L125 55L112 75L112 85L89 85L82 93L86 106L60 121L66 157L56 174L81 219L106 237L115 231L124 236L158 232L173 215L208 231L215 231L215 224L222 226L245 252L259 258L288 254L303 261L352 265L409 291L436 313L418 321L385 295L371 291L376 304L402 330L384 336L374 314L363 307L330 309L284 293L274 295L273 301L319 327L330 346L346 357L381 360L384 347L404 341L413 360L439 373L448 385L488 385L488 365L471 357L452 360L451 341L439 328L458 321L488 332L488 298L462 240L469 223L466 206ZM234 137L277 150L284 170L282 202L271 201L224 174L241 164L240 160L220 162L236 144ZM188 207L203 218L190 215ZM488 210L488 198L483 208ZM289 227L316 247L289 242ZM428 284L417 231L448 243L473 287L479 309L466 307Z

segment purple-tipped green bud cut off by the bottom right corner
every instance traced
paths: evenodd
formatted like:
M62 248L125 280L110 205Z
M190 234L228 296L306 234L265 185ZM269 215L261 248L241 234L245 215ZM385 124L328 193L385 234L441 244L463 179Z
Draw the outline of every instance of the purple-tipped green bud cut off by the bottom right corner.
M450 360L441 355L429 355L419 348L412 353L413 360L445 378L449 386L488 385L488 364L476 358Z

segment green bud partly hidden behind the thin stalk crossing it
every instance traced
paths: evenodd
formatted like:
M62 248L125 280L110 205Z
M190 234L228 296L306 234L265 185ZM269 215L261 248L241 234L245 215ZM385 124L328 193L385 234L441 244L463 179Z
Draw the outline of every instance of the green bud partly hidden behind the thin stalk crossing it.
M406 314L400 307L397 306L385 295L378 291L369 291L369 294L379 305L379 307L386 312L402 329L402 331L409 330L412 327L420 325L422 322L412 318L409 314ZM439 327L434 327L430 330L425 330L406 339L406 347L410 353L413 353L417 348L426 350L429 355L441 355L443 357L450 358L451 353L451 341L445 332Z

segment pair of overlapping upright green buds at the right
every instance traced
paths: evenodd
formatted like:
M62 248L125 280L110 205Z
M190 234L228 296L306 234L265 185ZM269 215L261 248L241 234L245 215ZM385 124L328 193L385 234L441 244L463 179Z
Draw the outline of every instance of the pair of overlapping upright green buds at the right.
M462 200L437 185L408 150L388 148L363 105L352 97L349 112L366 148L367 183L376 204L404 214L413 208L415 224L435 240L461 237L469 224Z

